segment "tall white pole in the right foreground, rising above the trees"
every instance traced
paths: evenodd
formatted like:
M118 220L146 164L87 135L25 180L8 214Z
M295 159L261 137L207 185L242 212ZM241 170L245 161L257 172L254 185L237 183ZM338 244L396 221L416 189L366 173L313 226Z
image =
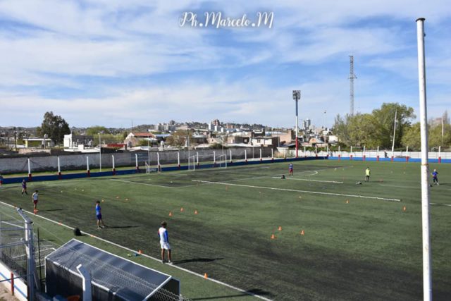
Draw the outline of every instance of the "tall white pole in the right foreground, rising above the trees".
M426 110L426 64L424 59L424 18L416 20L421 128L421 220L423 222L423 300L432 300L431 221L429 219L428 114Z

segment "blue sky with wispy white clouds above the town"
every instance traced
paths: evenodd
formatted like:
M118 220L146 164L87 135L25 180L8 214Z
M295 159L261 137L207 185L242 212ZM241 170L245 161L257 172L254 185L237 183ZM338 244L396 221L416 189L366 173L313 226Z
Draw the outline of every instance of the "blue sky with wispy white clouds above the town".
M180 27L185 12L273 27ZM0 0L0 126L204 121L332 125L383 102L419 107L416 18L426 18L428 117L451 106L446 1ZM326 111L326 113L324 113Z

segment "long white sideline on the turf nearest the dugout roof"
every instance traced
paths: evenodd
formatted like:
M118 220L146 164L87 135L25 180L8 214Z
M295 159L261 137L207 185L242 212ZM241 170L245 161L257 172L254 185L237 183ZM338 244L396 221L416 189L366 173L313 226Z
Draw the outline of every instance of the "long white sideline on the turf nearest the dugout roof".
M8 207L16 208L16 207L14 207L13 205L7 204L7 203L5 203L5 202L1 202L1 201L0 201L0 204L4 204L4 205L6 205L6 206L8 206ZM59 226L63 226L63 227L66 227L66 228L68 228L68 229L70 229L70 230L73 230L73 227L67 226L67 225L65 225L64 223L60 223L60 222L58 222L58 221L54 221L54 220L49 219L49 218L44 217L44 216L40 216L40 215L37 215L37 214L33 214L33 213L30 212L30 211L26 211L26 210L23 210L23 211L26 212L27 214L30 214L30 215L32 214L32 216L38 216L38 217L41 218L41 219L45 219L46 221L50 221L51 223L56 223L56 224L59 225ZM110 245L114 245L114 246L116 246L116 247L120 247L120 248L123 249L123 250L127 250L127 251L130 251L130 252L134 252L134 253L136 253L136 254L138 253L138 251L132 250L132 249L130 249L130 248L128 248L128 247L124 247L123 245L118 245L116 242L111 242L111 241L106 240L106 239L104 239L104 238L99 238L98 236L92 235L92 234L87 233L87 232L85 232L85 231L80 231L80 232L83 233L83 234L85 234L85 235L89 235L90 237L95 238L95 239L97 239L97 240L101 240L101 241L103 241L103 242L109 243ZM140 256L147 257L147 258L149 258L149 259L154 259L156 262L161 262L161 259L158 259L158 258L149 256L149 255L147 255L147 254L141 254ZM173 267L173 268L175 268L175 269L179 269L180 271L185 271L185 272L187 272L187 273L189 273L189 274L192 274L192 275L194 275L194 276L198 276L198 277L204 278L204 275L197 274L196 272L190 271L189 269L185 269L185 268L183 268L183 267L181 267L181 266L171 265L171 267ZM205 278L204 278L204 279L205 279ZM256 295L256 294L251 293L251 292L248 292L248 291L246 291L246 290L242 290L241 288L237 288L236 286L230 285L230 284L228 284L228 283L224 283L224 282L222 282L222 281L218 281L218 280L215 280L215 279L212 279L212 278L206 278L206 280L208 280L208 281L213 281L214 283L218 283L218 284L224 285L224 286L226 286L226 287L228 287L228 288L232 288L233 290L237 290L237 291L239 291L240 293L245 293L245 294L247 294L247 295L251 295L252 297L257 297L257 298L259 298L259 299L261 299L261 300L272 301L271 299L268 299L268 298L266 298L266 297L262 297L262 296L260 296L260 295Z

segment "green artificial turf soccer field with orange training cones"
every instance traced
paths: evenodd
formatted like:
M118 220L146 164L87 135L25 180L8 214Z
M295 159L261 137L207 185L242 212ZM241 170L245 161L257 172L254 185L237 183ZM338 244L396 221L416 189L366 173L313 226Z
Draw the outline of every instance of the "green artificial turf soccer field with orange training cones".
M256 164L36 182L29 194L39 190L40 216L152 257L165 220L176 266L269 299L421 300L420 165L293 164L292 178L288 163ZM440 180L431 188L433 297L451 300L451 165L432 168ZM32 211L20 190L5 185L0 201ZM96 200L108 226L101 230ZM228 300L185 291L193 300Z

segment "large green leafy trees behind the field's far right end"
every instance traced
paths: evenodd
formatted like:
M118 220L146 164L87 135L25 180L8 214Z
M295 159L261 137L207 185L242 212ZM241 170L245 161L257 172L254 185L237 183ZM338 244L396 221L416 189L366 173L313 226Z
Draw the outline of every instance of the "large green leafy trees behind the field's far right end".
M391 149L393 133L395 133L395 149L409 147L411 150L420 150L420 123L412 123L414 118L416 116L412 107L398 103L384 103L381 108L374 109L371 113L336 116L333 133L338 136L340 145L365 146L366 149L376 149L376 147ZM443 136L442 123L431 121L428 123L429 148L450 147L451 125L447 112L443 114Z

